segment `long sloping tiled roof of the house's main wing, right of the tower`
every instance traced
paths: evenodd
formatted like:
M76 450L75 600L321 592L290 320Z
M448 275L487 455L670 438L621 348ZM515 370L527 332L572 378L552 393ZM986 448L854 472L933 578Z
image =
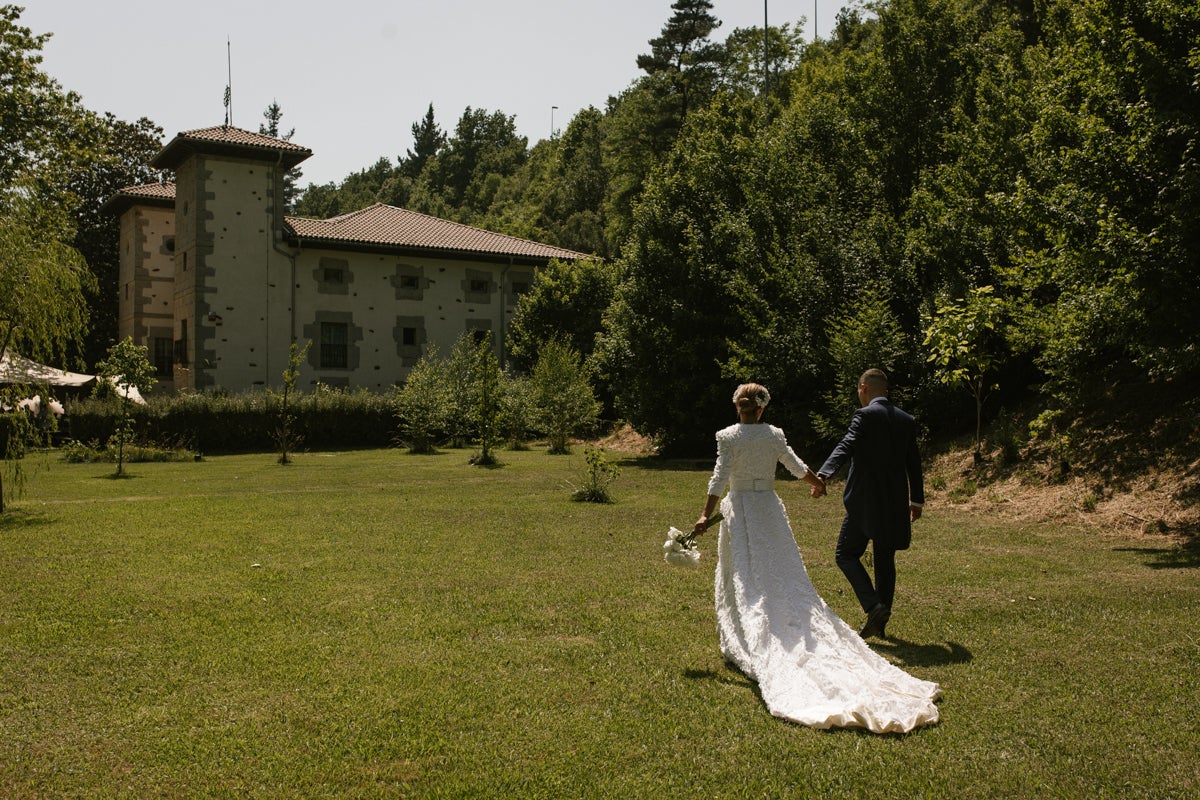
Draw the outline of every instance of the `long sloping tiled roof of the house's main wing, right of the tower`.
M437 251L446 255L461 253L566 260L590 258L587 253L496 234L383 203L331 219L284 217L284 223L292 229L292 239L299 240L301 245Z

